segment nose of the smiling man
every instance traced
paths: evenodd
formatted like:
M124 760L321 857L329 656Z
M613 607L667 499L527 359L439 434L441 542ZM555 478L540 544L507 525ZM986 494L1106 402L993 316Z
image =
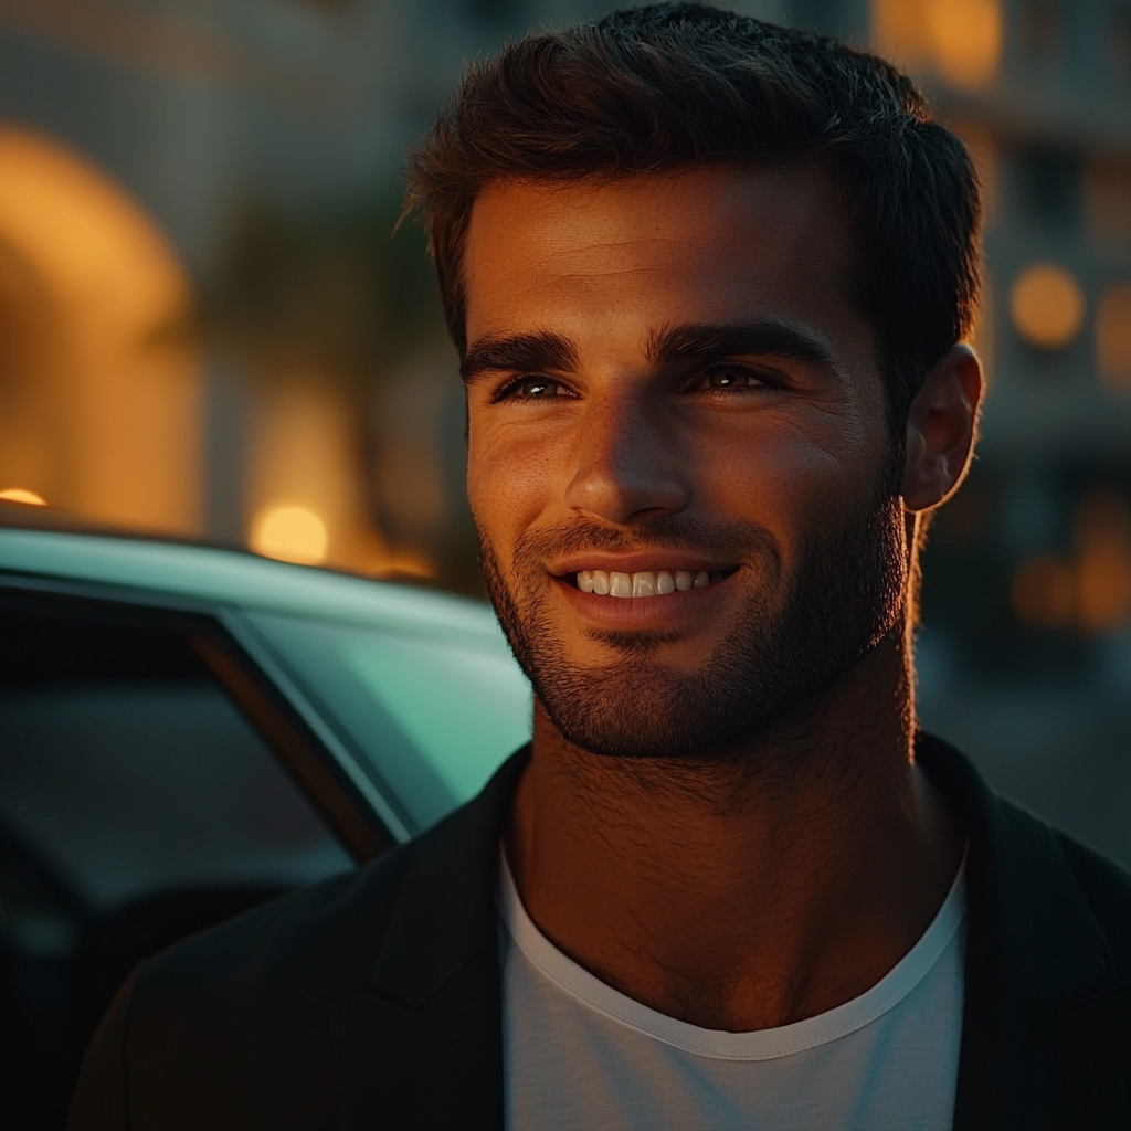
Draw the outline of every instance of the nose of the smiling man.
M579 425L566 504L623 525L682 511L689 501L676 438L634 400L605 403Z

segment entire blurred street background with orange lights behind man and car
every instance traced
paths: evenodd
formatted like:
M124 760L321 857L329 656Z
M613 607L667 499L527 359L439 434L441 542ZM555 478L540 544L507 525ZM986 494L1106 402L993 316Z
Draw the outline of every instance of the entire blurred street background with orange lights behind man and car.
M405 146L590 0L0 0L0 494L482 592ZM1131 863L1131 0L748 0L913 71L988 213L924 723Z

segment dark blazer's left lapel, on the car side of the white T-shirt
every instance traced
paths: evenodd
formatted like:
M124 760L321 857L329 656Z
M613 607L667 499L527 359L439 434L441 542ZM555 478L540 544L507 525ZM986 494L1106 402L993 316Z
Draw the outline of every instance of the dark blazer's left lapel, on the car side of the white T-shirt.
M334 1018L346 1129L502 1131L499 838L529 752L403 849L412 858L372 988Z

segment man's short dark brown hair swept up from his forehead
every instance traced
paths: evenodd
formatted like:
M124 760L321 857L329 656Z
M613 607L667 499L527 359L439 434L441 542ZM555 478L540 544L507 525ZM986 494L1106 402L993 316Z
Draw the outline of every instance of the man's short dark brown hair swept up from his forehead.
M411 154L452 340L461 254L497 181L620 179L711 163L814 161L831 173L899 431L927 370L975 319L981 207L962 143L890 63L822 35L698 3L614 11L469 64Z

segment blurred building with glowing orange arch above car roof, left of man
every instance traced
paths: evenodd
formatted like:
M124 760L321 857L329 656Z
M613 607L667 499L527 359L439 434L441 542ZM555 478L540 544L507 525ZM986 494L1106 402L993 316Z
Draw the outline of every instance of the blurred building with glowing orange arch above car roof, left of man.
M397 172L463 60L538 15L0 0L0 491L474 586Z

